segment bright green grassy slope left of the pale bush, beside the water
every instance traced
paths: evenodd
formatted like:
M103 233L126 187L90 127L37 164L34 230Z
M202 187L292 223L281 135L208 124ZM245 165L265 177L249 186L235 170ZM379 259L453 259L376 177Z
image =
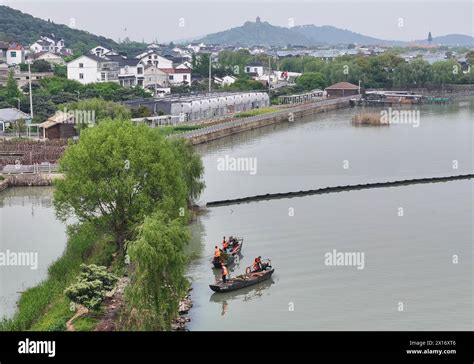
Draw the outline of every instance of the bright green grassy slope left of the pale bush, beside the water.
M0 330L66 329L66 322L74 315L74 311L70 309L70 302L64 296L64 289L76 279L81 263L109 266L113 261L114 250L110 238L98 235L91 225L71 226L68 236L66 250L63 256L49 267L48 278L21 295L15 316L2 321ZM90 326L86 325L86 322L84 325L79 324L79 327L84 328Z

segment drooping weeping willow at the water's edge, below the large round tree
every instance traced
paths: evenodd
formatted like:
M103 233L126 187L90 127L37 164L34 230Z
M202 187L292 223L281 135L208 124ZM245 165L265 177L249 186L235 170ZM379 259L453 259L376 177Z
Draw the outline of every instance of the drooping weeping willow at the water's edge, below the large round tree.
M188 287L184 277L188 240L182 219L169 220L161 212L145 218L128 249L133 274L126 293L127 329L171 330Z

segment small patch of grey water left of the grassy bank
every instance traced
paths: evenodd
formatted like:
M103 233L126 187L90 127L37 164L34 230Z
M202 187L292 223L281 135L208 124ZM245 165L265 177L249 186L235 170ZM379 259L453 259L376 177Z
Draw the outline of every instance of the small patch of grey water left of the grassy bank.
M0 193L0 254L23 254L24 265L0 266L0 318L11 317L22 291L47 277L66 246L66 226L54 216L51 187L9 188ZM26 254L26 255L25 255ZM28 258L26 258L28 257Z

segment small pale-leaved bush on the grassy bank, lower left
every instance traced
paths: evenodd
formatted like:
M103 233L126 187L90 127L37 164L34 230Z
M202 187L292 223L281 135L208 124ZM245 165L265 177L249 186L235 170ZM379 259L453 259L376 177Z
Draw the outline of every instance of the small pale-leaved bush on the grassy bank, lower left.
M71 284L64 294L72 302L94 310L99 307L105 294L112 290L118 278L108 273L106 267L81 264L77 282Z

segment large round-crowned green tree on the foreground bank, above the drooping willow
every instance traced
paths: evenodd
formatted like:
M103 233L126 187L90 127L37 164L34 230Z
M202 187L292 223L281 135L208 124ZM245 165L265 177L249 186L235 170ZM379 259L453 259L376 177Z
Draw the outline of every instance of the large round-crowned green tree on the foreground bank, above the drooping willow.
M170 219L186 210L189 169L161 133L129 121L103 120L87 128L60 160L64 179L56 184L54 205L60 219L91 221L114 237L124 253L136 227L153 211ZM201 179L201 175L186 176Z

